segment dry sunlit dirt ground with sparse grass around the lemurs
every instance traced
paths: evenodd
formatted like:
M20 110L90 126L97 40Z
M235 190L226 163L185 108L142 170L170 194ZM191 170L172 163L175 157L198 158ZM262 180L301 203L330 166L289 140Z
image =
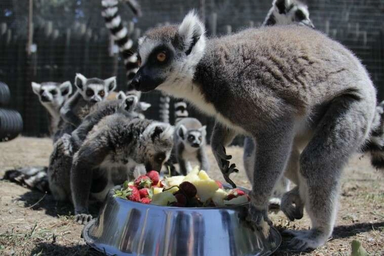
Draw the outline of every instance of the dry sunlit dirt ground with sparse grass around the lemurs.
M47 165L51 150L49 138L18 137L0 143L0 177L7 169ZM227 152L240 167L240 173L233 174L234 181L250 188L242 148L230 147ZM223 180L213 156L209 157L210 176ZM361 241L370 255L384 255L384 175L370 166L367 157L359 157L353 157L345 168L336 226L327 244L310 253L279 250L276 255L351 255L353 239ZM80 237L83 226L73 222L70 205L4 180L0 195L0 255L102 255ZM295 222L281 212L270 216L280 230L305 230L310 225L306 214Z

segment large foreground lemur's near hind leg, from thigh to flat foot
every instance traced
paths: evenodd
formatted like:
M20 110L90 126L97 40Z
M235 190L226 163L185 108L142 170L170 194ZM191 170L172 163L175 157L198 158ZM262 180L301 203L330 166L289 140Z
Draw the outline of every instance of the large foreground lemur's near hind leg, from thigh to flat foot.
M289 249L316 248L332 234L341 170L368 134L374 103L366 98L342 95L329 104L300 156L299 190L311 218L311 229L288 231L294 235Z

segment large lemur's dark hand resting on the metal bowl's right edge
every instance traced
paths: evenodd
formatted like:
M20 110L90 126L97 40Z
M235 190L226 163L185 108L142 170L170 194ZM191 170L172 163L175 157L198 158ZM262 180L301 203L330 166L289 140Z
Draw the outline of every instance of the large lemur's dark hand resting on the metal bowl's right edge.
M270 236L272 221L268 218L266 209L259 209L251 203L248 209L247 221L253 223L265 238L272 239Z

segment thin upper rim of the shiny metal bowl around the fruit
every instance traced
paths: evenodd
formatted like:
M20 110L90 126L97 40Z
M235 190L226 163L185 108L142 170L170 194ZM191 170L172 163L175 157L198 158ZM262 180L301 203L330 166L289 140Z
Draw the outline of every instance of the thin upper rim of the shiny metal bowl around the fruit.
M229 184L223 184L223 186L225 187L231 187L231 185ZM119 200L122 200L122 202L129 202L129 203L135 203L135 204L140 204L140 205L147 205L147 206L156 206L156 207L161 207L163 209L170 209L170 210L173 210L173 209L183 209L183 210L193 210L193 209L204 209L204 210L213 210L213 209L234 209L234 208L237 208L237 207L243 207L243 206L248 206L249 207L249 204L250 204L250 201L246 202L246 203L242 203L242 204L233 204L233 205L225 205L225 206L210 206L210 207L178 207L178 206L163 206L163 205L157 205L157 204L143 204L143 203L140 203L140 202L135 202L135 201L131 201L131 200L128 200L128 199L123 199L123 198L120 198L120 197L114 197L114 190L116 189L121 189L122 188L122 185L117 185L117 186L114 186L112 189L110 189L109 193L107 194L107 196L112 196L112 198L114 198L115 200L119 199ZM247 195L249 194L250 190L248 189L245 189L245 188L242 188L242 187L236 187L237 189L241 189L243 190L245 193L247 193Z

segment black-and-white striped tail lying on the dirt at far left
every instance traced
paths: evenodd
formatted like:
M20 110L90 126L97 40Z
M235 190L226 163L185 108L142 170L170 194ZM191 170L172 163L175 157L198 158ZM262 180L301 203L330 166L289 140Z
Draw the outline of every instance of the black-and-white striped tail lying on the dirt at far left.
M3 179L26 186L29 189L50 193L47 167L22 167L8 170Z

